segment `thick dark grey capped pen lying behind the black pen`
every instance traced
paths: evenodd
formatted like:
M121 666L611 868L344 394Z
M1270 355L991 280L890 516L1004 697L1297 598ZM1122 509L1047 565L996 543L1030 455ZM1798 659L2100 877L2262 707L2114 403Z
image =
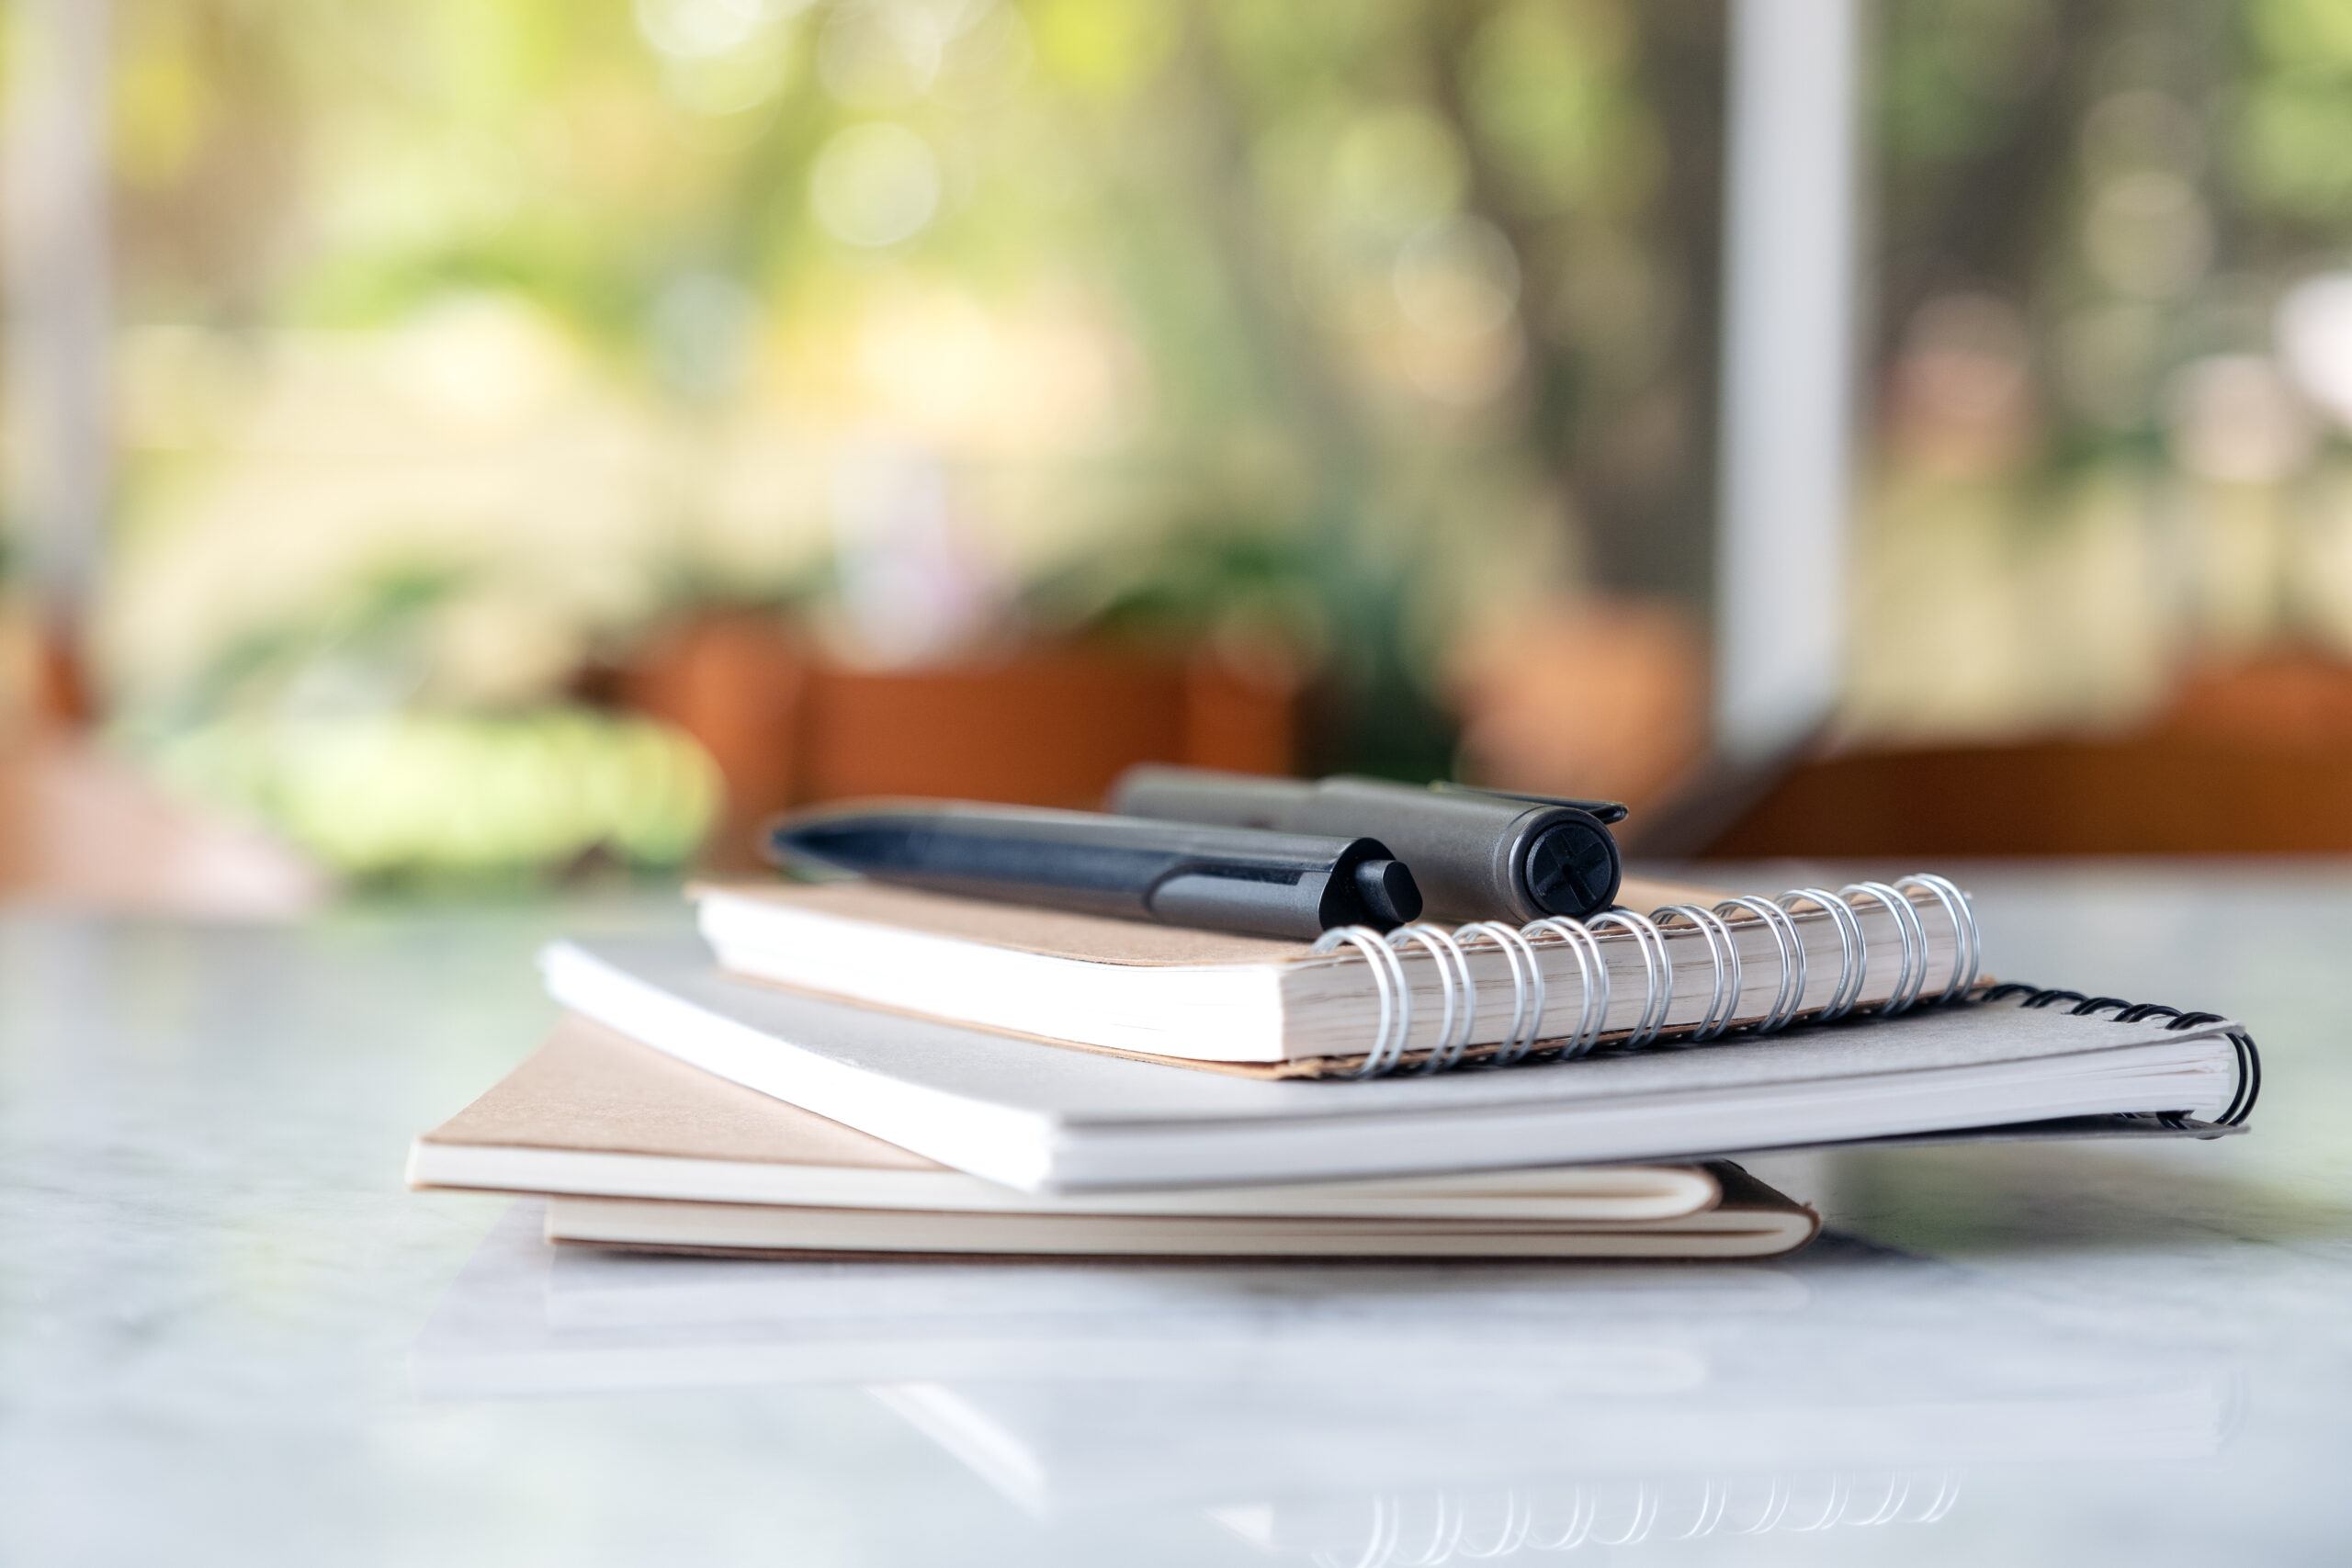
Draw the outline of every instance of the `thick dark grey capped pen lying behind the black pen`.
M1583 919L1616 900L1609 823L1625 806L1385 778L1261 778L1145 762L1110 785L1110 811L1176 823L1371 837L1414 867L1444 919Z

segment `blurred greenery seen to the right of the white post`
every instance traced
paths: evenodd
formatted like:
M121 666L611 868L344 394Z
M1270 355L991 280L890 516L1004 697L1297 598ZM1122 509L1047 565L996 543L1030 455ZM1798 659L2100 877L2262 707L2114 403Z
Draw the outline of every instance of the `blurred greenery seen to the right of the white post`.
M2347 16L1879 7L1858 731L2117 726L2180 665L2352 656Z

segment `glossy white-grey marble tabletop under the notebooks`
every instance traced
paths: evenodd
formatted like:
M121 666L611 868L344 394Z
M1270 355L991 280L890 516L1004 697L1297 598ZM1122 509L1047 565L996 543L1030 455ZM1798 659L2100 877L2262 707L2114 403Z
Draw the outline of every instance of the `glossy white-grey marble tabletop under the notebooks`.
M2345 1561L2352 865L1957 875L2256 1131L1778 1157L1769 1265L557 1258L402 1154L673 900L5 910L0 1561Z

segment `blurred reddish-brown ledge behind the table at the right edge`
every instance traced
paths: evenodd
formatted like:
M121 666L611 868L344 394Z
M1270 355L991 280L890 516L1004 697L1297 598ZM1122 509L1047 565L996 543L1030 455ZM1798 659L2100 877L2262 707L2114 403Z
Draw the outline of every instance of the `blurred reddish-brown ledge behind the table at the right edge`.
M1816 757L1703 853L2352 853L2352 668L2286 651L2201 672L2112 738Z

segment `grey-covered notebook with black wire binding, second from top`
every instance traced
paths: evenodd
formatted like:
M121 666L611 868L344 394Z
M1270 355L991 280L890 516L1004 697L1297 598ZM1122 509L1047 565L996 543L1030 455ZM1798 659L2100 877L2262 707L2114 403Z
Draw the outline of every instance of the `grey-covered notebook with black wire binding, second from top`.
M2213 1133L2256 1091L2230 1020L2027 1006L2063 1001L2049 992L1503 1072L1265 1081L739 980L691 940L555 943L541 969L560 1004L630 1039L1025 1192L1658 1161L2077 1117L2096 1121L2065 1131Z

